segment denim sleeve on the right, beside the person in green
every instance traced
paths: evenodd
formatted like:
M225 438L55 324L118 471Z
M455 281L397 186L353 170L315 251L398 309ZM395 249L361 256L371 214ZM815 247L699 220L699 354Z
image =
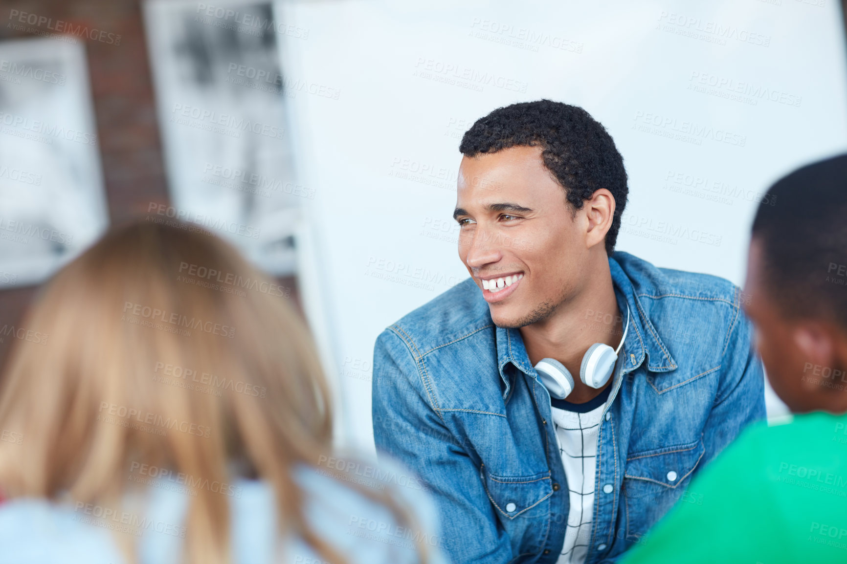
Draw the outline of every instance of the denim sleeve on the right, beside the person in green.
M739 307L727 335L717 397L703 428L703 462L717 456L748 423L766 415L765 375L752 339L753 324Z

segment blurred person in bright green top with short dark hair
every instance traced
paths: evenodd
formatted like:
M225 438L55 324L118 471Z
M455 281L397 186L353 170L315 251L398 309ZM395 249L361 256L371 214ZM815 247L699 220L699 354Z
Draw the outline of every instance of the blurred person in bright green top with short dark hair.
M847 155L772 186L745 305L773 390L798 413L750 426L623 561L847 562Z

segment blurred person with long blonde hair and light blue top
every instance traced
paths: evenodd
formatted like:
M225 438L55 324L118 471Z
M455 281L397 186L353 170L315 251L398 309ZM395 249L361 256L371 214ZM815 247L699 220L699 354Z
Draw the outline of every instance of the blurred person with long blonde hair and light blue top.
M0 390L0 562L443 561L396 468L331 455L317 354L271 288L217 237L146 222L47 283Z

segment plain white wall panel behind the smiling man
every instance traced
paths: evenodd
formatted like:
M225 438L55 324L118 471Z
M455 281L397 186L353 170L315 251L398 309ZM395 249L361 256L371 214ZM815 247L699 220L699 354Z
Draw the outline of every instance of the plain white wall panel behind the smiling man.
M756 193L847 147L833 0L277 9L299 29L282 32L283 68L302 84L290 101L299 181L317 193L302 284L335 362L340 438L365 448L374 339L467 276L451 213L473 120L541 97L586 108L629 174L617 248L739 285Z

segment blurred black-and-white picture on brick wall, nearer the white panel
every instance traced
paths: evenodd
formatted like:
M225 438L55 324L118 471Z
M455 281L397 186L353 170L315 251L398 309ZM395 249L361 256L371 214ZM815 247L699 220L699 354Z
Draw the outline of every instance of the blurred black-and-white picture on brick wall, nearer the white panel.
M301 202L314 192L292 175L271 3L150 0L145 23L166 215L218 233L270 274L292 274Z

